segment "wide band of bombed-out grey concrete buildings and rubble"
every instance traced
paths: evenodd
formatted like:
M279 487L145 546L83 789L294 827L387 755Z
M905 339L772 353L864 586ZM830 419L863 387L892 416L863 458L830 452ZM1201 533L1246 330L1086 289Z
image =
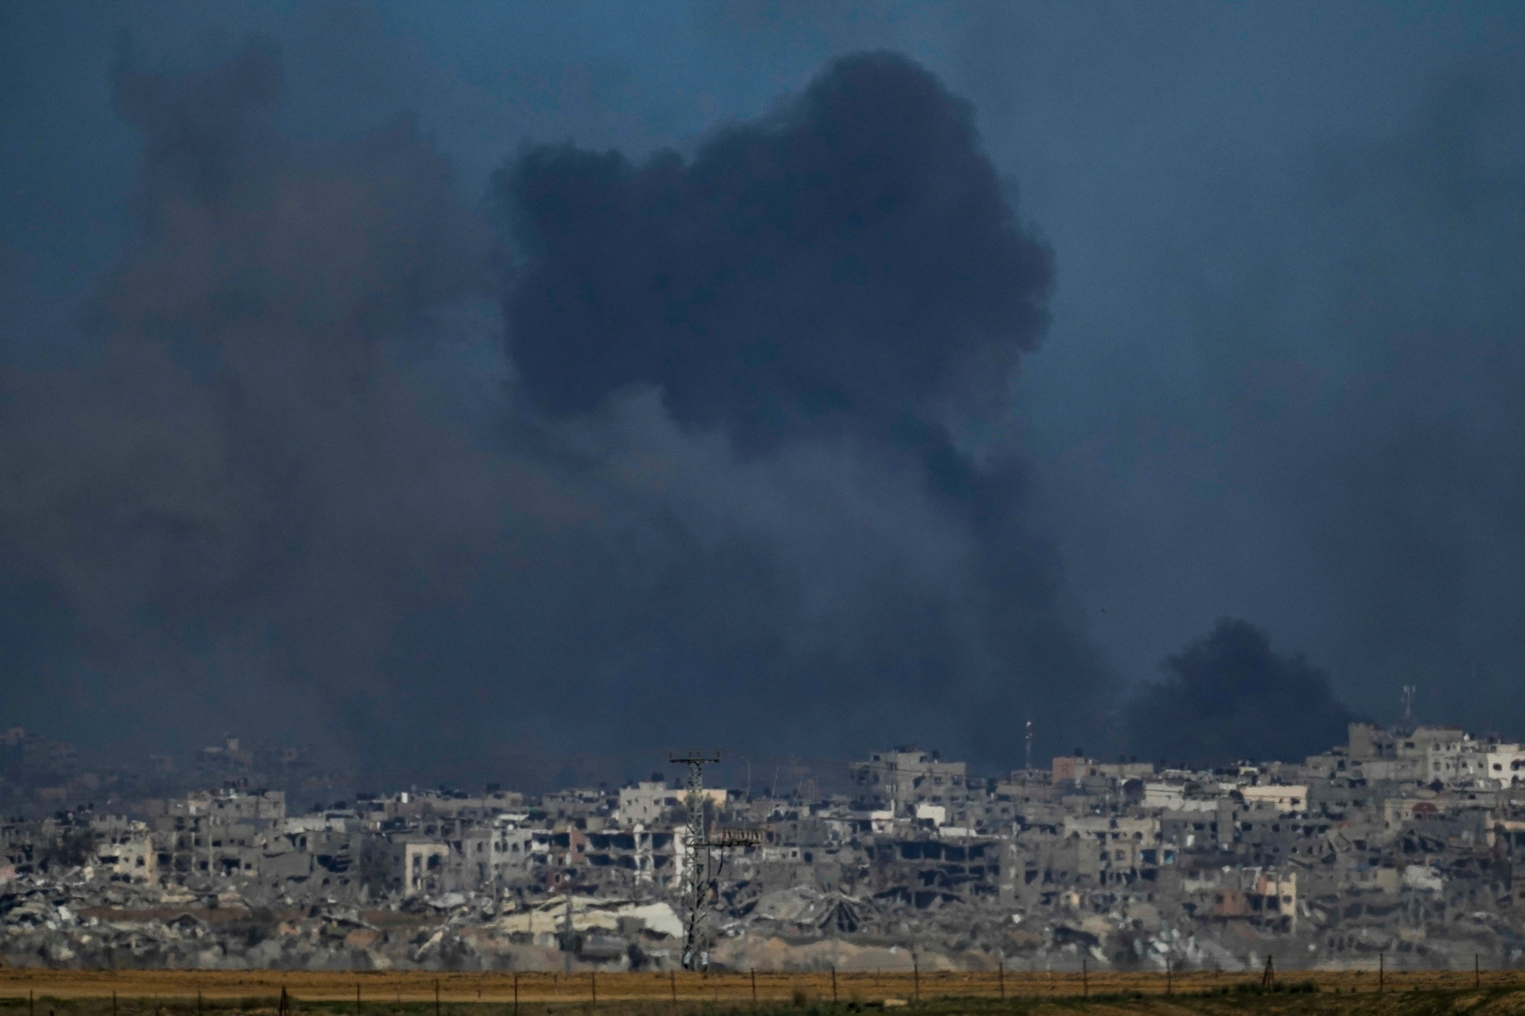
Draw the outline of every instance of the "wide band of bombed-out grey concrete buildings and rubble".
M1058 757L973 777L913 746L840 794L706 791L709 963L1519 966L1525 749L1356 724L1296 763ZM226 784L0 826L0 958L177 969L669 969L683 792L406 792L293 815Z

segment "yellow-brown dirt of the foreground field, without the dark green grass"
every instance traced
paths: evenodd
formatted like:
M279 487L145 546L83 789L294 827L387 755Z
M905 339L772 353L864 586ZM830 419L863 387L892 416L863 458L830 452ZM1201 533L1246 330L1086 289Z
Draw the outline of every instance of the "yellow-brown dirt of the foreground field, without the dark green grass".
M1438 992L1478 993L1485 996L1519 995L1525 1004L1525 972L1482 972L1476 979L1470 972L1408 972L1388 973L1379 978L1376 972L1327 972L1293 973L1279 978L1284 987L1312 981L1318 995L1284 995L1289 1002L1302 999L1304 1010L1313 1011L1313 999L1319 1005L1345 999L1340 1011L1356 1011L1365 1004L1376 1005L1372 1011L1385 1016L1394 1013L1394 1004L1405 996L1414 1001ZM323 1004L323 1008L354 1011L358 992L361 1016L389 1016L410 1008L429 1011L438 998L441 1016L444 1007L456 1013L471 1011L471 1004L511 1005L584 1005L618 1010L621 1004L665 1002L679 1008L750 1008L778 1005L817 1005L837 1002L842 1008L889 1005L897 1002L920 1004L923 1008L964 1005L968 1008L999 1008L999 1001L1023 1001L1025 1005L1042 999L1066 999L1066 1005L1081 1002L1087 996L1124 996L1142 993L1148 999L1167 1005L1161 1011L1182 1010L1188 996L1238 992L1241 986L1258 986L1260 975L1247 973L1185 973L1167 979L1164 973L1026 973L1026 972L936 972L936 973L877 973L877 972L726 972L726 973L430 973L430 972L308 972L308 970L43 970L0 969L0 1001L8 1001L14 1011L17 1002L35 1007L35 999L50 999L53 1008L64 1002L79 1001L81 1005L63 1005L66 1013L84 1013L88 999L119 999L119 1008L136 1011L142 1001L151 1001L154 1010L197 1011L197 999L207 1008L258 1010L270 1005L282 990L305 1004ZM438 992L438 995L436 995ZM1167 998L1167 992L1170 996ZM1244 998L1235 996L1240 1002ZM1247 998L1247 996L1246 996ZM1270 996L1267 996L1269 999ZM1353 1005L1357 999L1363 1005ZM1135 1002L1138 999L1133 999ZM1151 1004L1153 1004L1151 1001ZM1379 1005L1380 1002L1380 1005ZM997 1005L991 1005L997 1004ZM1513 1004L1513 1002L1511 1002ZM1095 1011L1096 1004L1087 1005ZM110 1010L105 1010L110 1011ZM1124 1011L1124 1010L1118 1010ZM1125 1011L1144 1011L1130 1008ZM1267 1010L1270 1011L1270 1010ZM1449 1011L1449 1010L1434 1010ZM1481 1011L1481 1010L1479 1010ZM1490 1010L1491 1011L1491 1010ZM1498 1010L1513 1011L1513 1010ZM1522 1005L1520 1011L1525 1011ZM29 1013L29 1016L40 1016ZM58 1016L55 1013L55 1016ZM117 1014L120 1016L120 1013Z

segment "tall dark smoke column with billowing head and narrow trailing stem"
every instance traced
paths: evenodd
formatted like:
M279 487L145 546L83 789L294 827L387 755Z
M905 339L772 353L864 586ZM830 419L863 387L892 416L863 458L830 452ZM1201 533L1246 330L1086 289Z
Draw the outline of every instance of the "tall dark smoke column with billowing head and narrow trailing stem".
M946 687L987 759L1013 757L1028 716L1086 727L1104 681L1025 529L1022 468L959 448L1005 413L1054 277L965 102L901 56L857 55L692 160L540 148L499 186L528 254L505 303L511 350L538 407L592 413L654 385L743 458L845 439L912 469L974 564L946 617L900 623L962 650L881 679ZM836 708L871 689L849 684Z

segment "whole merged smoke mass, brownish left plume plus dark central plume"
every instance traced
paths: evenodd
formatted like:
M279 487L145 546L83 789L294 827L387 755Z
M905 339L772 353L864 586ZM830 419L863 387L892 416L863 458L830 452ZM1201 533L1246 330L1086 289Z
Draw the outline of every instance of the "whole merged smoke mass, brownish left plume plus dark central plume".
M1028 716L1089 725L1022 471L965 451L1048 254L926 72L834 64L686 165L515 161L511 358L432 143L296 143L279 93L258 49L117 73L143 160L98 352L0 373L0 705L134 749L332 736L400 781L689 742L1002 765Z

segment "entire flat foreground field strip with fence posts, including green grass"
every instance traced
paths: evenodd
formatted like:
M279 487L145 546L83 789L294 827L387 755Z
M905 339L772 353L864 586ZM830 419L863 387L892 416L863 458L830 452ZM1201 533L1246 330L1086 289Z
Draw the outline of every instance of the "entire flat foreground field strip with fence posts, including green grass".
M753 989L755 984L755 989ZM517 986L517 989L515 989ZM1316 990L1312 990L1316 989ZM427 973L307 970L0 969L0 1016L671 1016L808 1010L837 1016L915 1008L930 1016L999 1013L1520 1013L1519 972L1281 978L1188 973ZM517 1002L515 1002L517 992ZM1168 993L1167 993L1168 992ZM1005 998L1002 998L1005 995ZM833 1001L833 998L836 1001Z

